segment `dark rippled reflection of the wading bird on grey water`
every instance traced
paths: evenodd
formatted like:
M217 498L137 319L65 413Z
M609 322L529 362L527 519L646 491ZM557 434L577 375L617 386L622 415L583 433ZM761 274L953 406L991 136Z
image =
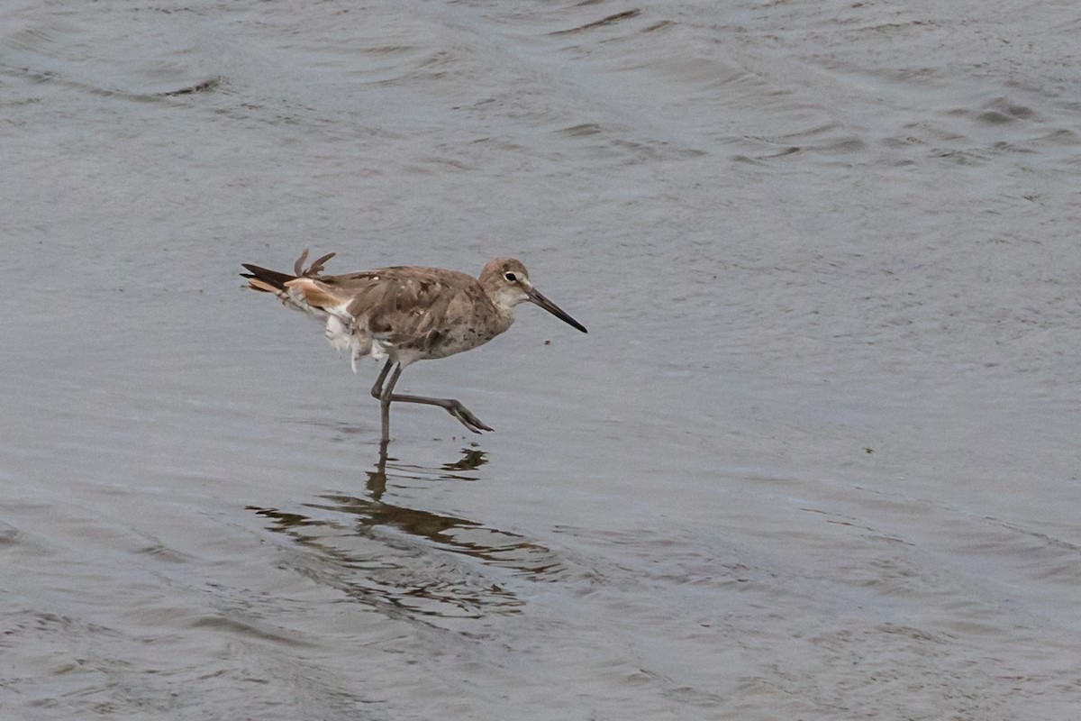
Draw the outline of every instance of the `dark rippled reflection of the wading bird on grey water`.
M475 471L488 463L486 452L466 446L431 468L383 446L364 471L363 493L322 493L295 510L248 508L293 542L283 547L284 566L390 615L440 625L516 613L524 603L515 590L520 580L564 575L557 553L521 534L401 500L402 490L423 495L433 483L479 481Z

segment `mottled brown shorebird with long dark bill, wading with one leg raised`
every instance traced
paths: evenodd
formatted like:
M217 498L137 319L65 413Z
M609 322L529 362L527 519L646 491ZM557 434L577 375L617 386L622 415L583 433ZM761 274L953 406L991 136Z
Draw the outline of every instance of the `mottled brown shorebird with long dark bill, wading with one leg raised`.
M446 358L471 350L499 335L515 322L515 306L529 301L583 333L586 328L540 294L520 261L490 261L479 278L442 268L395 266L342 276L322 275L329 253L311 263L305 250L293 264L293 275L244 263L248 288L273 293L282 304L323 321L326 339L348 350L353 373L357 361L371 356L386 359L372 396L379 401L383 444L390 440L390 403L438 405L463 426L479 433L492 430L452 398L404 396L395 385L408 365L418 360ZM389 376L389 377L388 377Z

